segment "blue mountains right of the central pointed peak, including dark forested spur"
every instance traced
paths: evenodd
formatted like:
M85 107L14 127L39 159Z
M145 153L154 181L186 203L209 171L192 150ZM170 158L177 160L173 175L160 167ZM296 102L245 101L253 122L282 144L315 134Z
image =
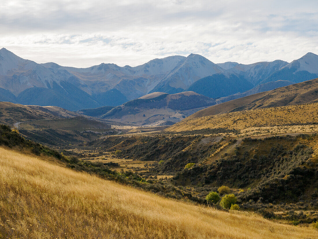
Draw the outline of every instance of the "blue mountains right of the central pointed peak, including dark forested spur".
M235 63L218 64L228 69L198 80L186 91L195 91L212 98L221 97L222 99L218 99L217 102L222 103L318 77L318 56L313 53L308 53L291 63L281 60L247 65ZM232 94L234 91L235 93Z

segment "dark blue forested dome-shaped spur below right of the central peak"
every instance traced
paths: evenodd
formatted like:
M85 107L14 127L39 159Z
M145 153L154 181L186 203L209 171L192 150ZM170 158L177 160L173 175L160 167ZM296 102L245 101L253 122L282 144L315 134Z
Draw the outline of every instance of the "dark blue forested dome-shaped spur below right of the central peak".
M190 85L187 91L194 91L210 98L219 98L253 88L253 84L236 74L217 73L204 77Z

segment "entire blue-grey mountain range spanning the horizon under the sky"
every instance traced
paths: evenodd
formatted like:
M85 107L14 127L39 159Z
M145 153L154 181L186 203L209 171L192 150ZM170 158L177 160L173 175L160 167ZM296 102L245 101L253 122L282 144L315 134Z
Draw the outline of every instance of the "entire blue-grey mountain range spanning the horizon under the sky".
M74 68L53 62L38 64L0 49L0 101L67 110L117 106L153 92L194 91L226 100L316 77L318 56L313 53L291 63L215 64L190 54L154 59L136 67L102 63Z

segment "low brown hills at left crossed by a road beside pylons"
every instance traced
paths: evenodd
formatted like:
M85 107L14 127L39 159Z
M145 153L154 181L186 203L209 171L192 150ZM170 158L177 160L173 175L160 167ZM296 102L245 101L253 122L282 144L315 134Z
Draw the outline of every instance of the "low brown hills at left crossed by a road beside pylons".
M20 105L0 102L0 123L13 127L20 122L24 137L43 144L66 146L117 134L119 123L83 116L57 106Z

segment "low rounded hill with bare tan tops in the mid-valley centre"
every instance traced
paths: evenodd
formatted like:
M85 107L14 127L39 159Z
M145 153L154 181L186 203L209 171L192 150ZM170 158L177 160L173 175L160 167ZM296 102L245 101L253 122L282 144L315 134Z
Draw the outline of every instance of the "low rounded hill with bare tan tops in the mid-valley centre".
M136 125L173 124L215 100L195 92L154 92L114 107L101 118Z

